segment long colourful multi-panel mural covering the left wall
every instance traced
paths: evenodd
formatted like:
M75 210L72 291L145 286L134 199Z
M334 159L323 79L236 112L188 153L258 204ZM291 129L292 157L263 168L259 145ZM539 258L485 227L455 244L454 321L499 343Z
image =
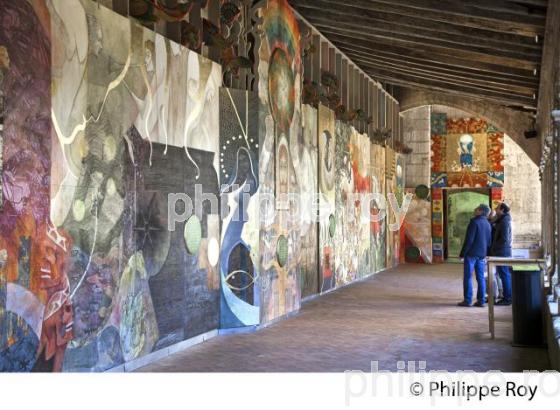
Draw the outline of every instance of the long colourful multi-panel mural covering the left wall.
M118 368L395 263L351 195L402 164L302 106L286 0L254 8L258 94L91 0L0 7L0 371Z

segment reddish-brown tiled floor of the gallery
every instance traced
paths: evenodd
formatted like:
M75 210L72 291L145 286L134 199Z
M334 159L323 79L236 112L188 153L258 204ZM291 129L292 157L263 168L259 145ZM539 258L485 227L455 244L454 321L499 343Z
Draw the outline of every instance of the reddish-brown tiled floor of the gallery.
M292 318L250 334L219 336L140 369L146 372L544 370L545 349L514 348L511 308L459 308L460 265L402 265L305 303Z

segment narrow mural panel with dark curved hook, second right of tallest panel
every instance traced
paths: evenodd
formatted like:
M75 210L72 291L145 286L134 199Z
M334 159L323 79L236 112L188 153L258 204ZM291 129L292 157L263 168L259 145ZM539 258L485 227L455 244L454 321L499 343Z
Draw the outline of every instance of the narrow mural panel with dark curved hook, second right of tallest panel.
M337 146L334 111L319 105L319 267L321 292L335 287L335 152Z

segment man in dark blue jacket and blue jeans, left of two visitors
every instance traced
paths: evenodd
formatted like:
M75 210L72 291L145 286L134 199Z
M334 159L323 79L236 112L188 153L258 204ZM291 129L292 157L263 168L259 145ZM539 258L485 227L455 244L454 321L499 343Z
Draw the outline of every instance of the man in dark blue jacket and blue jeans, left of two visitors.
M458 306L472 305L472 272L476 274L477 292L474 306L483 307L486 295L486 282L484 272L486 270L486 256L490 250L492 241L492 227L488 222L490 207L480 204L474 210L475 216L471 219L467 228L465 242L461 249L463 258L463 301Z

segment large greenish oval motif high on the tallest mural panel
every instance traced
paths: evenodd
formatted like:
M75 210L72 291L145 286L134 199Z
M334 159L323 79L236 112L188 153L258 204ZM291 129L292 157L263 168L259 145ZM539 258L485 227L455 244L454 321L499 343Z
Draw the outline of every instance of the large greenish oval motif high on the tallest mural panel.
M289 130L294 117L295 79L290 60L281 48L274 50L270 57L268 96L276 124L281 130Z

